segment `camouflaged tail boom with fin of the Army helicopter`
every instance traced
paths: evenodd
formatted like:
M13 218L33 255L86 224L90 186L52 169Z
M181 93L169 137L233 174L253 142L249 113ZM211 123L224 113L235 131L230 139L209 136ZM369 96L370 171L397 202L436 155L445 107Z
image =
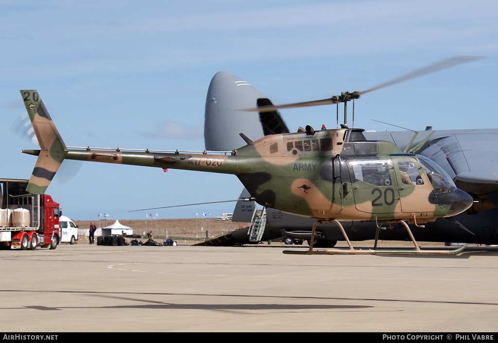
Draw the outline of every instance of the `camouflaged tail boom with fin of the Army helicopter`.
M25 154L38 156L26 187L30 193L44 193L64 159L236 175L252 171L250 158L238 159L231 155L68 148L55 128L38 92L36 90L21 90L20 92L40 145L40 150L22 151Z

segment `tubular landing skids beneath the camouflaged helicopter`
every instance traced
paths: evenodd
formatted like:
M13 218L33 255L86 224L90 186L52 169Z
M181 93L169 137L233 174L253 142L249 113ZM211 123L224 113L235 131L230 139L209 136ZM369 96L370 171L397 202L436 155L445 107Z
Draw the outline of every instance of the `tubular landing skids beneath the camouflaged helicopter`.
M377 229L377 234L375 235L375 244L373 249L355 249L351 245L351 242L348 239L348 235L346 235L346 231L344 230L344 227L341 225L340 222L337 220L331 220L331 222L336 223L339 228L341 229L344 238L346 239L346 242L348 242L349 249L325 249L325 250L313 250L313 241L315 238L315 229L317 225L320 223L320 221L317 221L313 225L313 229L311 231L311 244L310 248L307 251L294 251L294 250L284 250L284 254L288 255L336 255L336 254L341 254L341 255L419 255L419 254L439 254L439 255L450 255L450 254L458 254L459 252L463 251L466 247L467 244L461 245L456 249L453 250L421 250L420 247L418 246L417 242L415 241L415 238L413 237L413 234L411 233L410 228L408 227L408 224L404 220L398 220L408 231L408 234L410 235L410 238L415 245L414 249L377 249L377 241L378 241L378 229Z

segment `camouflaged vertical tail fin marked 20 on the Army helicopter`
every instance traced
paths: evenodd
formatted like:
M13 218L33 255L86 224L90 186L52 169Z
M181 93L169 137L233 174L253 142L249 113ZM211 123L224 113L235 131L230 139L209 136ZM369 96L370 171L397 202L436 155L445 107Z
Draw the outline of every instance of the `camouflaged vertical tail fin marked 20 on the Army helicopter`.
M26 190L32 194L43 194L67 155L67 148L38 92L36 90L21 90L20 92L40 145L40 150L22 151L26 154L38 155Z

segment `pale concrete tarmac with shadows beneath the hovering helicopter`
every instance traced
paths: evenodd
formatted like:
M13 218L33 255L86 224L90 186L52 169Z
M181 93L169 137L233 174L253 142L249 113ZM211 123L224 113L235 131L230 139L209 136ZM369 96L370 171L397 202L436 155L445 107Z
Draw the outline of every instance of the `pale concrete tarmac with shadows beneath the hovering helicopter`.
M497 331L498 248L282 253L289 249L307 246L1 250L0 331Z

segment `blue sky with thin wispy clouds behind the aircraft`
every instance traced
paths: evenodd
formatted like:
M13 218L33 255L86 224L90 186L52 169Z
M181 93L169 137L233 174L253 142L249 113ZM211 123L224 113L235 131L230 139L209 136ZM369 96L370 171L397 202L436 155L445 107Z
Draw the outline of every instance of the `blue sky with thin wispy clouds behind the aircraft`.
M211 78L236 74L273 103L365 90L452 55L485 59L368 93L372 119L422 130L498 127L498 2L0 1L1 177L29 178L35 149L13 135L20 89L37 89L68 146L204 148ZM349 108L349 107L348 107ZM291 130L335 125L336 108L282 111ZM127 210L238 197L233 175L83 163L47 193L75 220L142 219ZM212 217L229 203L155 211ZM154 212L154 214L155 214Z

